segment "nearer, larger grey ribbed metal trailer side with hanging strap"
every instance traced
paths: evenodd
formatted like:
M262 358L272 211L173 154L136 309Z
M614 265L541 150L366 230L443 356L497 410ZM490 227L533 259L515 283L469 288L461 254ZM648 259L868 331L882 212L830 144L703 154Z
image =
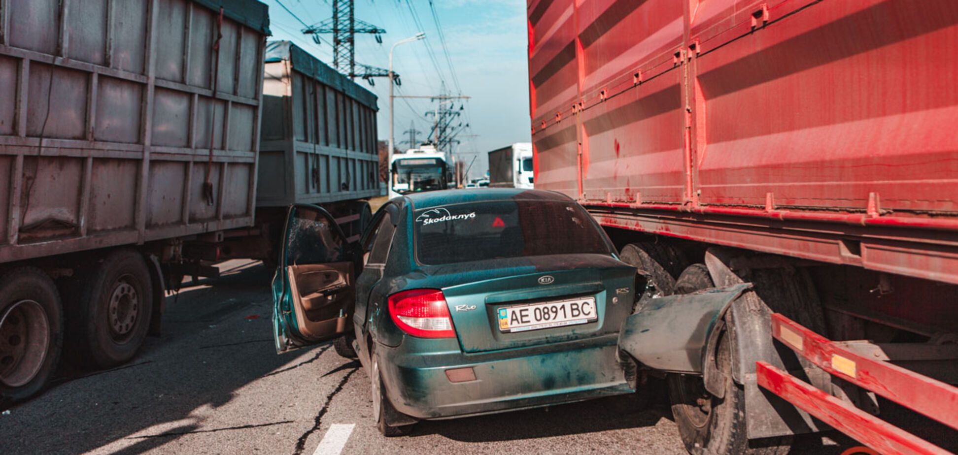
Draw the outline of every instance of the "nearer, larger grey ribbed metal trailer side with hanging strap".
M268 16L214 3L0 0L0 262L252 224Z

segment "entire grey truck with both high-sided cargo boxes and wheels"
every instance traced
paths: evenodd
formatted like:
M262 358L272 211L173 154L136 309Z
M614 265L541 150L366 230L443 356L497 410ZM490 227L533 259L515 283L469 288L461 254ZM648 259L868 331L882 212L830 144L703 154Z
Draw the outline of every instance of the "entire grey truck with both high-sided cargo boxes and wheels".
M184 276L271 260L288 204L368 222L376 97L266 58L268 24L255 0L0 0L0 398L64 347L132 358Z

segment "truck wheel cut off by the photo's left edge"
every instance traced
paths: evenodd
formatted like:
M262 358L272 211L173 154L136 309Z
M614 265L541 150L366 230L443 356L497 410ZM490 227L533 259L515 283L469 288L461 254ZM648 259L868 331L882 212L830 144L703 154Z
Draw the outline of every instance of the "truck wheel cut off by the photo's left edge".
M39 392L57 370L63 345L63 307L57 286L34 267L0 277L0 398Z

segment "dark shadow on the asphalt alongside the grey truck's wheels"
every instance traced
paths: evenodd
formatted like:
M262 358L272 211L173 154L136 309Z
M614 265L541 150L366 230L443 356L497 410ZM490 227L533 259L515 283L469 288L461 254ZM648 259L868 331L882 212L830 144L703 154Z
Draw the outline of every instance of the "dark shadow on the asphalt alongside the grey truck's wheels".
M105 371L68 367L38 397L11 407L0 422L0 452L134 454L185 434L291 423L253 415L209 428L196 413L330 348L276 354L271 278L271 270L252 266L169 296L163 335L148 337L132 361Z

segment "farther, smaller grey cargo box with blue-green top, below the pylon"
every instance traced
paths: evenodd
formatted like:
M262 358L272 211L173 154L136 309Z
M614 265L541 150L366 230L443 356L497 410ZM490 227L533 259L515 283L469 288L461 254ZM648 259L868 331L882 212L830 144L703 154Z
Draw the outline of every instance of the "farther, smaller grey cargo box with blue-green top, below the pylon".
M288 41L265 58L257 205L379 194L376 95Z

